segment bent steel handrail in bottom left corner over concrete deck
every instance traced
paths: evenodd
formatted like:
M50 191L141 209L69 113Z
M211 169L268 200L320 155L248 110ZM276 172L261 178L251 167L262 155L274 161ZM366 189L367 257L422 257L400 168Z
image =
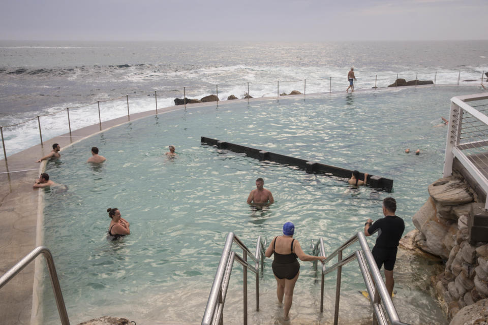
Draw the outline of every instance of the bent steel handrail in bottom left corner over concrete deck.
M36 247L33 251L25 255L16 265L8 270L2 277L0 277L0 289L7 284L13 277L15 277L20 271L22 271L29 263L34 261L39 254L43 254L46 258L47 269L49 270L49 278L51 279L52 290L54 291L54 297L56 298L57 311L59 312L59 318L63 325L70 325L68 313L66 311L65 301L63 300L63 294L61 293L61 287L57 278L56 268L54 267L54 259L51 252L45 246Z

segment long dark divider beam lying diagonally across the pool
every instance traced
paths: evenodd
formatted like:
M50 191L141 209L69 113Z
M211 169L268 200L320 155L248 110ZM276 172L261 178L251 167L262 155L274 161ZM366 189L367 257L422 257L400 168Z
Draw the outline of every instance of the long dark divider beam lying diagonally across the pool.
M241 146L226 141L220 141L220 140L211 139L207 137L200 137L200 142L202 144L207 144L210 146L217 146L217 148L219 149L227 149L227 150L232 150L234 152L242 152L255 159L270 160L270 161L275 161L276 163L279 164L296 166L300 169L307 171L307 173L328 174L328 175L338 176L343 178L350 178L352 175L352 171L348 169L320 164L314 161L285 156L279 153L269 152L269 151L260 150L256 148ZM364 174L360 173L360 177L363 178ZM367 184L370 185L372 188L381 189L387 192L391 192L393 188L392 179L384 178L381 176L375 176L375 175L368 175Z

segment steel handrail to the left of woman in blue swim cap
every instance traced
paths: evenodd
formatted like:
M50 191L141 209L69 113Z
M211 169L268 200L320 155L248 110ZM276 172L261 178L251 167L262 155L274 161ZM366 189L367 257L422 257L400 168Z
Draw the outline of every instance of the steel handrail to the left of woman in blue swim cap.
M242 248L242 257L232 251L232 243L236 243ZM208 296L207 305L202 318L202 325L223 324L223 311L225 304L225 297L227 295L227 288L229 286L230 275L234 261L237 261L243 268L243 324L248 323L248 270L256 275L256 310L259 311L259 262L261 261L261 272L264 267L264 247L266 240L262 241L261 236L256 242L256 252L253 253L244 245L234 233L230 232L227 235L224 244L224 250L220 257L219 266L215 274L214 283ZM254 265L248 263L248 256L251 257Z

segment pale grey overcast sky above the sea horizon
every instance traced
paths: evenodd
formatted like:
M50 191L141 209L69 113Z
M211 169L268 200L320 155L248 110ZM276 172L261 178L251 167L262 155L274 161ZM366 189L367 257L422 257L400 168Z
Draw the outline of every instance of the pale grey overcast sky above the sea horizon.
M2 40L486 40L488 0L0 0Z

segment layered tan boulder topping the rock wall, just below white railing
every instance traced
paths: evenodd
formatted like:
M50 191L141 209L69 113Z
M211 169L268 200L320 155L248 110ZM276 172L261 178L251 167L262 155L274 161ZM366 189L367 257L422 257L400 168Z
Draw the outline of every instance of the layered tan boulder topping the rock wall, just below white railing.
M453 176L441 178L429 185L429 194L436 203L457 205L473 201L473 195L466 184Z

